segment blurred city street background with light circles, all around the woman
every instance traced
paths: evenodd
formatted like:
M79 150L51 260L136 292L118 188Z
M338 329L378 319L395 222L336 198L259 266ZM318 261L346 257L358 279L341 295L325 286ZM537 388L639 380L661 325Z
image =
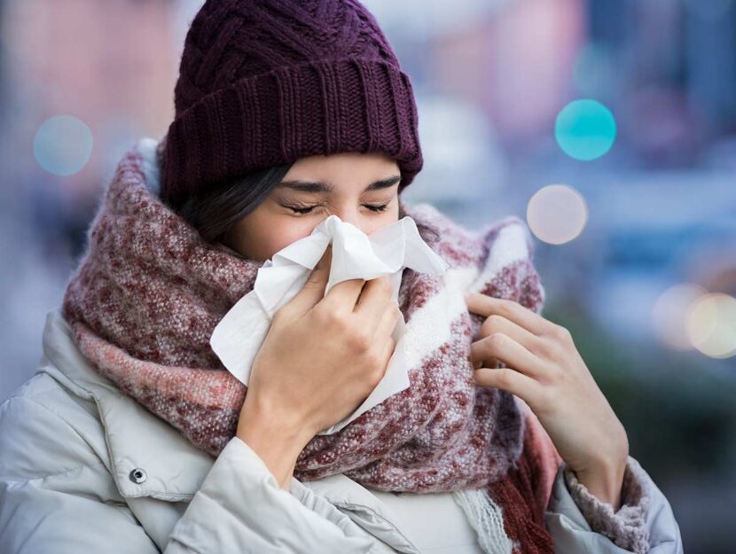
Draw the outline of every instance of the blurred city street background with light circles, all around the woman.
M367 0L411 76L404 195L519 215L685 551L736 522L736 2ZM195 0L0 0L0 399L35 371L102 187L161 138Z

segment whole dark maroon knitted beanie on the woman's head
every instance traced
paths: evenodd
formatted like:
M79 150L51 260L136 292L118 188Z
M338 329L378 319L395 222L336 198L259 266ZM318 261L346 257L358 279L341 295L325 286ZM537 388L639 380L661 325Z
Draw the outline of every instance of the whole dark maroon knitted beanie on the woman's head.
M161 196L175 205L256 169L384 152L422 168L409 76L356 0L207 0L184 41Z

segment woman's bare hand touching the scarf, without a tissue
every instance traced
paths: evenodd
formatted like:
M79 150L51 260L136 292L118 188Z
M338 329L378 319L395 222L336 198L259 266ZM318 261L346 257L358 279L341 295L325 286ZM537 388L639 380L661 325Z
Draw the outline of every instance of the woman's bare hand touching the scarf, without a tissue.
M617 509L629 441L570 332L513 300L467 293L466 303L485 317L471 346L476 382L526 402L578 479Z

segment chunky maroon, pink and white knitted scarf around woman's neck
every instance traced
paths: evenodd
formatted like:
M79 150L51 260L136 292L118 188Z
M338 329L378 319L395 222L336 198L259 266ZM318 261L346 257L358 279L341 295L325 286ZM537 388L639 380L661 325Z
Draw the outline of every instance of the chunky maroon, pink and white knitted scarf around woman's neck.
M204 241L162 203L160 155L161 145L145 138L121 159L67 284L63 314L102 375L217 456L236 432L247 387L225 370L209 338L252 290L262 261ZM539 312L544 289L529 231L515 216L470 232L428 204L403 207L437 231L427 244L450 263L444 276L403 271L398 300L411 385L340 432L315 436L294 477L344 473L367 488L458 491L458 499L482 492L479 534L502 520L507 541L493 551L551 553L544 511L561 459L520 399L474 384L470 345L483 318L468 312L463 295L513 299Z

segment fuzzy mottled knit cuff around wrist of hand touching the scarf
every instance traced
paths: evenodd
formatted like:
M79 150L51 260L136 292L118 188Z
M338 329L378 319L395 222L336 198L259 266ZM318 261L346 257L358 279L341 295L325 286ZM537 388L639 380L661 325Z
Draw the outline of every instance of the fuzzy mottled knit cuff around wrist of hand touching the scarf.
M614 511L611 503L601 501L577 479L567 464L563 471L570 495L583 517L596 533L605 534L622 549L645 554L649 551L649 530L646 511L650 491L644 470L636 459L629 456L623 473L622 505Z

